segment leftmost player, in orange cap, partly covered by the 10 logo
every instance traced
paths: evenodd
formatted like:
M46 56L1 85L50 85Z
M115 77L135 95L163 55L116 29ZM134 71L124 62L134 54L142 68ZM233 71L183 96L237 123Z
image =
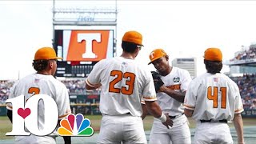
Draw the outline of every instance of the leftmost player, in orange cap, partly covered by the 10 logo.
M27 75L14 84L10 90L9 98L15 98L20 95L25 95L25 102L34 94L46 94L54 98L58 106L59 119L65 118L70 114L70 99L66 86L54 78L57 69L57 59L53 48L42 47L34 54L34 70L35 74ZM12 106L7 103L7 115L12 122ZM38 110L44 110L42 101L38 102ZM38 113L38 128L43 129L44 126L44 113ZM26 130L26 128L25 128ZM30 136L16 136L15 142L17 143L56 143L56 134L50 134L44 137L30 134ZM70 137L63 137L65 143L70 143Z

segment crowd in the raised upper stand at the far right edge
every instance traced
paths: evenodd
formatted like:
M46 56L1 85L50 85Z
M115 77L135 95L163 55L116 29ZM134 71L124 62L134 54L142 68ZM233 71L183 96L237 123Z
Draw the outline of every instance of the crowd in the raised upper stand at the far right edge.
M256 44L250 45L249 50L242 50L230 61L246 60L246 59L254 59L254 58L256 58Z

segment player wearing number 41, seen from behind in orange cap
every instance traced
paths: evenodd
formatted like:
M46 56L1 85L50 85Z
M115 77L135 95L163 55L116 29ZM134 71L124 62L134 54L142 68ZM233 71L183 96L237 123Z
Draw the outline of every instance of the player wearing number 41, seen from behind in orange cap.
M234 120L238 143L244 143L243 111L239 89L222 70L222 52L209 48L204 54L207 72L190 82L185 114L197 121L194 143L233 143L227 122Z

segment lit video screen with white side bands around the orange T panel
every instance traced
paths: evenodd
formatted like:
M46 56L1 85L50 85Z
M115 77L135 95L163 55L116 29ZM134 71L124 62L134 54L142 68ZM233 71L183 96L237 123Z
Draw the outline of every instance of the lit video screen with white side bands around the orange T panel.
M113 58L113 30L55 30L54 35L57 54L63 61L95 62Z

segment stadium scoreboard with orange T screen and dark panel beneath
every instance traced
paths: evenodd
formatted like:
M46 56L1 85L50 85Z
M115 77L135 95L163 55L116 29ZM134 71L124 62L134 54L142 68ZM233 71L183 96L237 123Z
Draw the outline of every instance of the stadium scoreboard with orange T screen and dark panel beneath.
M58 57L55 76L79 78L100 60L114 57L114 30L54 30Z

